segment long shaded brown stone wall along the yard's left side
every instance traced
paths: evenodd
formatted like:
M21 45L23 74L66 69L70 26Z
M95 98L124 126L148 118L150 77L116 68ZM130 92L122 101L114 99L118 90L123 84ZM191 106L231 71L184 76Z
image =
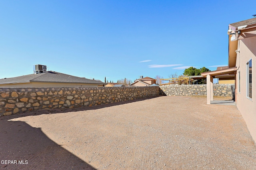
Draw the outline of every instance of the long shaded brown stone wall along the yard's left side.
M95 106L158 96L161 93L158 86L0 88L0 115L37 109Z

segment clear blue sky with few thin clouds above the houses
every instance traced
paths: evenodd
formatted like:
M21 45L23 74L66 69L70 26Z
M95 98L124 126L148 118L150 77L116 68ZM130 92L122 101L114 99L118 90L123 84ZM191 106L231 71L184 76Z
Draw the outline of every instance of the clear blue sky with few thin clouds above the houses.
M0 0L0 78L33 65L78 77L182 74L228 64L228 24L256 1Z

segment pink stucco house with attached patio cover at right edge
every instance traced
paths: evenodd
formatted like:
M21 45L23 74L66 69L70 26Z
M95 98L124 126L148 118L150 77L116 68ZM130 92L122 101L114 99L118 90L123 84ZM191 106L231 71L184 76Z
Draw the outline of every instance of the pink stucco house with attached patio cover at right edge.
M229 24L228 68L204 72L207 78L207 104L213 100L212 78L235 76L235 102L256 141L256 18Z

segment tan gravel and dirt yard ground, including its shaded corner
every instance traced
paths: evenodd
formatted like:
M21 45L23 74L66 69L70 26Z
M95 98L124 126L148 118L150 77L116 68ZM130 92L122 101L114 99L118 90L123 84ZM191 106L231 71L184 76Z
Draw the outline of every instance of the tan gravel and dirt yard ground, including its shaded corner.
M256 145L236 106L160 96L0 117L0 159L27 161L3 169L256 170Z

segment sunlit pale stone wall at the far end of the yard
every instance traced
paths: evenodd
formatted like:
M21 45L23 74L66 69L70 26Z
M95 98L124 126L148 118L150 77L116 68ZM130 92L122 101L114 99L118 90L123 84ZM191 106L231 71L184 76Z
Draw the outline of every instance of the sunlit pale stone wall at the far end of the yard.
M231 85L213 84L214 96L232 96ZM206 96L206 84L160 86L167 96Z

